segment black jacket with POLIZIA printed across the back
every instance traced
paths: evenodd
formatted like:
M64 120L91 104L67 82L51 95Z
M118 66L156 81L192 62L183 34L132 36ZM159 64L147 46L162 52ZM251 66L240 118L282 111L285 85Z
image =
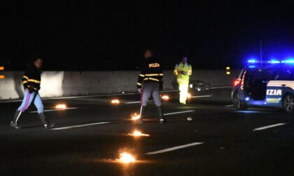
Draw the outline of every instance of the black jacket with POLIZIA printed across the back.
M143 82L162 83L163 69L161 62L155 57L149 57L144 61L139 74L137 88L140 89Z

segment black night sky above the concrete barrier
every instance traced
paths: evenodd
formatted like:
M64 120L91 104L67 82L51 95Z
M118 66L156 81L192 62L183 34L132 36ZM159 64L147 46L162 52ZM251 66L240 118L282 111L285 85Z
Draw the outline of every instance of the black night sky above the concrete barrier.
M41 1L40 1L41 2ZM1 5L2 63L47 70L127 70L151 47L167 68L240 66L246 57L294 56L292 1L23 1Z

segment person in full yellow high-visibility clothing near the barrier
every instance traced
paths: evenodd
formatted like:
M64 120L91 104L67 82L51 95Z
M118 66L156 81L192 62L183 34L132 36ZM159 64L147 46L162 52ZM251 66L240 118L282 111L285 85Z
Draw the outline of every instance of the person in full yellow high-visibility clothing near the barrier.
M179 84L180 103L186 105L188 97L189 78L192 75L192 66L187 63L187 57L182 57L181 62L174 67L176 82Z

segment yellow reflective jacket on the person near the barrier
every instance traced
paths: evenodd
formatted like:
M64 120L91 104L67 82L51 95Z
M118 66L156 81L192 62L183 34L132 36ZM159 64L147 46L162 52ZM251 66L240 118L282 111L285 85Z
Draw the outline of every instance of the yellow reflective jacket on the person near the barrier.
M174 67L174 74L177 81L189 81L190 75L192 75L192 66L188 63L182 64L180 62Z

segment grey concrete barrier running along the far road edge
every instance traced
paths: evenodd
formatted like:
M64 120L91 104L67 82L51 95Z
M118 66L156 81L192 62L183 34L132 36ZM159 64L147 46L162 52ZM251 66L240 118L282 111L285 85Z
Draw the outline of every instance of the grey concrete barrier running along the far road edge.
M23 96L22 71L3 71L0 80L0 99ZM224 70L193 71L191 79L202 80L213 87L230 86L239 71L226 75ZM137 91L139 71L45 71L41 76L42 97L114 94ZM164 89L172 89L173 71L165 71Z

